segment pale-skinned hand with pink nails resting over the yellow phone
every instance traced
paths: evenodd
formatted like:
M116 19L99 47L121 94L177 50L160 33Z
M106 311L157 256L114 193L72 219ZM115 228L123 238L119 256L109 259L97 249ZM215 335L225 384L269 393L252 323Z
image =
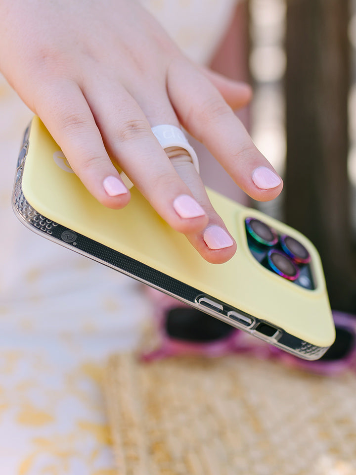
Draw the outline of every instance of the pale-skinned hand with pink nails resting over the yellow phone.
M273 199L282 181L233 112L249 101L247 85L189 61L134 0L2 0L0 29L0 71L100 203L130 201L116 161L204 259L233 256L236 243L190 157L174 149L170 159L151 127L184 127L243 191ZM212 248L212 227L220 248Z

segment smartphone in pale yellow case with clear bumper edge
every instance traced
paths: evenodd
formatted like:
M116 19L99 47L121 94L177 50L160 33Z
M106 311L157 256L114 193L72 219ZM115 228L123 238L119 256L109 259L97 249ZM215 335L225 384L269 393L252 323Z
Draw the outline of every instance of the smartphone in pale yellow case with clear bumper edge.
M207 191L237 242L224 264L206 262L135 188L124 209L101 205L34 117L18 158L13 208L40 236L296 356L320 358L335 327L315 247L295 229Z

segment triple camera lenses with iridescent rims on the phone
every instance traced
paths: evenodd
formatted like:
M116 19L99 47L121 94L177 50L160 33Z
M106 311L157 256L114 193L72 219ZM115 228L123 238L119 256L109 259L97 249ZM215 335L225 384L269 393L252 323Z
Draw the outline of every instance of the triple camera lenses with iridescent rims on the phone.
M248 240L252 245L250 250L257 260L284 279L296 281L301 276L301 266L311 261L306 247L291 236L278 235L274 229L256 218L247 218L245 223Z

